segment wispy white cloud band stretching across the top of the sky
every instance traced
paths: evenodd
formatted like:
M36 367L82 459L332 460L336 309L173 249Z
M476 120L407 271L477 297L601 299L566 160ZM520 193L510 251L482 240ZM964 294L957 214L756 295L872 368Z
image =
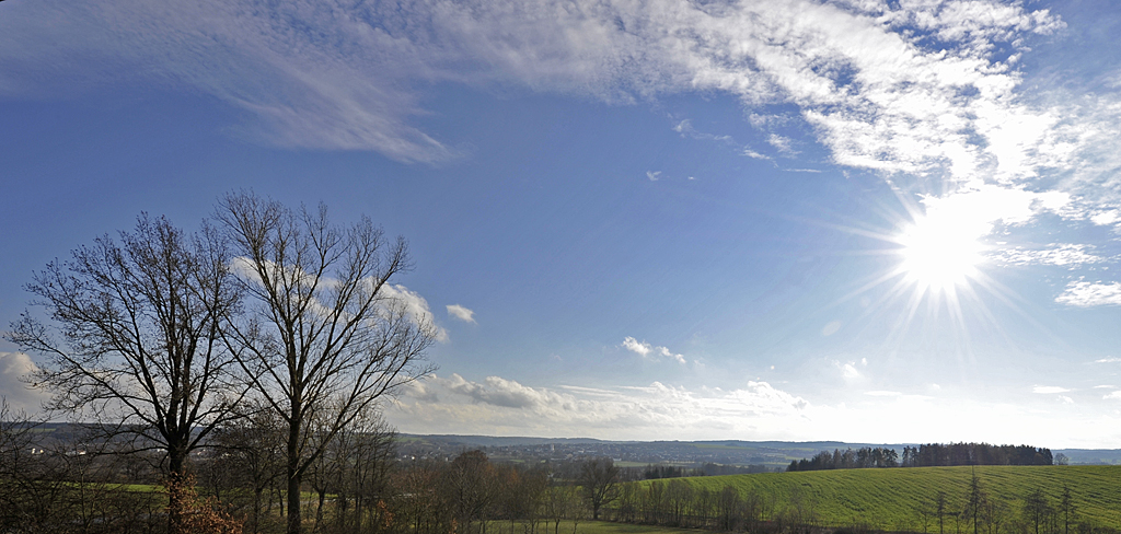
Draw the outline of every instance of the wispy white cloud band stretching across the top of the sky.
M983 0L46 0L0 20L0 91L186 84L243 111L260 141L404 161L457 153L414 125L423 87L442 82L615 103L721 92L751 106L750 122L785 153L800 140L772 129L797 118L843 166L1006 186L1071 168L1069 189L1119 189L1106 172L1121 158L1112 96L1017 92L1026 43L1063 26L1047 10ZM1001 60L999 48L1012 55ZM798 111L759 105L771 103ZM687 120L675 130L702 135ZM1068 165L1075 156L1082 163Z

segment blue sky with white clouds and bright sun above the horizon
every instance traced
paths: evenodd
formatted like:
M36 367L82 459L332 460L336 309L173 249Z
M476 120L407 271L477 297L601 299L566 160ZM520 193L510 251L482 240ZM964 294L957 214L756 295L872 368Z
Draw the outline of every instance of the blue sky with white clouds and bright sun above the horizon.
M409 242L401 432L1121 448L1121 9L0 2L0 329L141 213ZM40 356L0 341L0 395Z

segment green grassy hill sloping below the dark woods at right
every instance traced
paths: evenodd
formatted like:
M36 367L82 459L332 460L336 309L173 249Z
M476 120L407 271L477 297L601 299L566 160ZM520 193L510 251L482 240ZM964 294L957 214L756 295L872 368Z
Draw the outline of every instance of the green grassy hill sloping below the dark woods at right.
M877 530L923 532L921 509L944 493L951 514L964 507L972 469L990 498L1007 506L1006 516L1021 516L1023 497L1041 489L1057 505L1064 485L1071 488L1080 522L1121 528L1121 466L981 466L892 469L844 469L694 477L694 489L720 491L732 486L741 495L754 493L781 512L800 505L821 526L867 525ZM645 481L643 485L651 481ZM947 517L946 532L955 532ZM937 518L926 518L937 532ZM962 525L965 531L965 525Z

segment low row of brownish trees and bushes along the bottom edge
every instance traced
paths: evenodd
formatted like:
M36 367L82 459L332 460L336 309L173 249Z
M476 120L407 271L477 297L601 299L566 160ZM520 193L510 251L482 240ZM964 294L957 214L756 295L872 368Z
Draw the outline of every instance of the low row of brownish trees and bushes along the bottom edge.
M18 419L18 418L17 418ZM4 416L3 421L11 421ZM28 453L34 425L0 427L0 532L163 532L159 494L122 486L148 481L114 442L77 437ZM188 532L275 533L286 528L284 423L271 412L215 430L207 455L188 465L212 497L180 499ZM158 455L147 458L159 460ZM451 461L395 460L393 433L376 413L335 434L308 470L304 500L318 533L560 534L591 518L721 532L790 532L823 526L821 505L802 485L743 489L670 478L621 481L610 459L534 466L491 462L482 451ZM216 510L222 510L219 513ZM916 500L892 528L938 534L1086 534L1072 491L993 495L980 477L952 495ZM161 525L164 523L164 525ZM201 525L201 526L200 526ZM860 527L860 525L853 525ZM863 528L867 528L863 527Z

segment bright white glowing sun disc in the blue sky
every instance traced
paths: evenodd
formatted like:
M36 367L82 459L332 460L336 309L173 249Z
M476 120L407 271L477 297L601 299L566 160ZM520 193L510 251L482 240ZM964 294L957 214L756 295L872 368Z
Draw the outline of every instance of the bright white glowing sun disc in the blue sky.
M920 289L949 292L979 274L981 232L969 217L928 214L896 237L902 261L897 272Z

